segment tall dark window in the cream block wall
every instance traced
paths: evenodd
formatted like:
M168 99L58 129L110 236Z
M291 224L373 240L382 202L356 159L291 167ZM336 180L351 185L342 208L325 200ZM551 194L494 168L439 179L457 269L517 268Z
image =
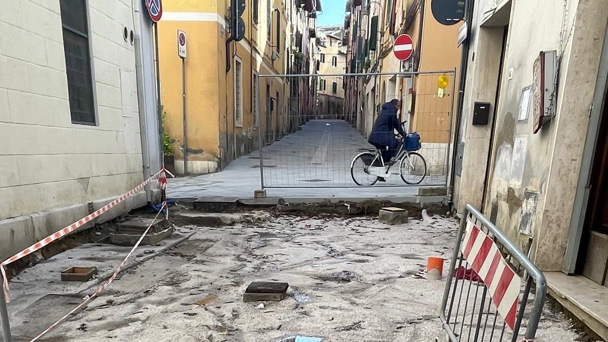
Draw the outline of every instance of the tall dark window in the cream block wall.
M86 2L61 0L60 6L72 123L95 125Z

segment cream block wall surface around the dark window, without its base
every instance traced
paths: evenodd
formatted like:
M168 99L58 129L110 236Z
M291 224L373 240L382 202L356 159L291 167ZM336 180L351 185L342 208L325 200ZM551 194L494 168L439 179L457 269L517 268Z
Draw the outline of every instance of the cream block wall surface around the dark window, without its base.
M0 12L0 220L120 195L142 181L131 1L89 1L97 125L72 124L58 0Z

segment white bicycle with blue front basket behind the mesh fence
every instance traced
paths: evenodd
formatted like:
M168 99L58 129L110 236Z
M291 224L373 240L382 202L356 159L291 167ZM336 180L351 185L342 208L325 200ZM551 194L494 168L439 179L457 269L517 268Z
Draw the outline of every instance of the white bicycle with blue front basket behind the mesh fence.
M376 148L376 153L362 152L356 155L350 163L350 175L354 183L358 186L373 186L378 181L378 177L389 176L390 168L396 164L399 164L399 175L406 184L422 183L426 176L426 161L420 153L415 152L420 150L420 141L416 142L418 144L416 147L406 147L412 142L408 140L410 137L419 139L416 138L419 137L416 132L406 134L395 158L389 163L384 162L378 148ZM359 178L361 172L361 178Z

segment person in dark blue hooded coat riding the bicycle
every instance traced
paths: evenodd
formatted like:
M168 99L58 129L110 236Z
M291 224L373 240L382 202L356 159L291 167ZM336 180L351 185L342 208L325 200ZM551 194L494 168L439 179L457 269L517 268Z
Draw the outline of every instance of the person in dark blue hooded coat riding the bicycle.
M382 110L378 114L378 119L374 122L374 127L371 129L368 142L374 145L382 155L384 165L392 165L395 163L395 154L399 150L399 139L395 138L395 130L404 137L406 133L401 127L401 122L397 117L397 111L401 108L401 101L393 99L390 102L382 105ZM384 181L384 178L378 177L379 181Z

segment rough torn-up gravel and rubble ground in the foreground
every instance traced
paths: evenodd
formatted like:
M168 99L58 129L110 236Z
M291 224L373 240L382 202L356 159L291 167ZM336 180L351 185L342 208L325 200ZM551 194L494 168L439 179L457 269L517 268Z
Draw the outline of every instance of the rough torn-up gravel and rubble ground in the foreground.
M445 283L425 279L424 268L428 256L451 255L455 220L387 226L371 217L255 215L181 226L160 245L140 247L133 267L39 341L444 341L437 313ZM10 284L15 341L29 341L97 290L128 250L81 245L19 274ZM61 283L59 272L74 265L98 267L97 281ZM244 303L252 281L288 282L288 298ZM537 341L578 337L561 313L545 309Z

